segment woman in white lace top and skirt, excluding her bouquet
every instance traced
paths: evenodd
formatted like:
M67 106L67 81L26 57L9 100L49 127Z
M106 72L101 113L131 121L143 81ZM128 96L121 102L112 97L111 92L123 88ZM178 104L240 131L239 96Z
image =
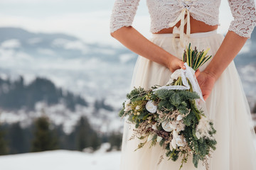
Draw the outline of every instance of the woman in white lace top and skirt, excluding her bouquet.
M218 144L210 157L210 169L256 170L250 108L233 62L256 25L255 1L228 0L228 3L234 20L225 37L216 32L220 0L147 0L152 33L149 40L132 27L139 0L116 0L110 32L139 55L131 90L134 86L149 89L156 84L166 85L172 72L184 68L181 59L188 42L192 49L210 47L208 55L213 57L196 72L207 116L217 130ZM124 121L120 169L179 169L179 159L172 162L165 157L158 164L165 152L159 145L149 148L146 144L134 152L140 141L129 140L133 129L134 125ZM191 158L183 169L196 169ZM198 164L198 169L204 169L203 165Z

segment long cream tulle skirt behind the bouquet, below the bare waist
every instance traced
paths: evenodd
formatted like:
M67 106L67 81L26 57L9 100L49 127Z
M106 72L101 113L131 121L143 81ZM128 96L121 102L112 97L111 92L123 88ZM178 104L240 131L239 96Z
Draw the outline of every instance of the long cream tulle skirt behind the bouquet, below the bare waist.
M216 31L206 33L193 33L189 42L192 48L206 50L210 47L208 55L215 55L224 36ZM183 48L173 45L172 34L153 35L151 42L164 48L167 52L180 58L183 55ZM176 47L176 50L174 47ZM225 57L225 56L223 56ZM225 59L224 59L225 60ZM210 60L206 62L201 71L206 68ZM142 86L149 89L156 84L164 86L171 76L171 72L166 67L151 60L139 56L134 67L131 90L134 86ZM255 170L256 169L256 149L253 145L255 134L252 128L252 118L250 108L242 89L242 84L234 62L231 62L220 76L210 96L206 100L208 117L213 120L217 133L215 138L218 142L217 149L211 154L210 170ZM176 162L167 160L165 150L158 144L149 148L149 142L137 149L139 139L129 140L132 136L134 125L124 121L124 133L122 139L122 159L121 170L178 170L181 159ZM159 158L164 154L164 160L158 165ZM196 169L193 166L191 157L183 166L185 170ZM198 164L198 169L205 169Z

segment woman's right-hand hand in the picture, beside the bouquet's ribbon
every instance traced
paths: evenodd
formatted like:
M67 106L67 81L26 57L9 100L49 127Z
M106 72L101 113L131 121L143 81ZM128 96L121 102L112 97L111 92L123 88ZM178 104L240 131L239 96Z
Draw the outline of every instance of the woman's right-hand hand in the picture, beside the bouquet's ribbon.
M200 72L199 69L196 71L196 78L201 88L203 99L206 101L206 99L210 96L211 91L213 90L216 78L207 72Z

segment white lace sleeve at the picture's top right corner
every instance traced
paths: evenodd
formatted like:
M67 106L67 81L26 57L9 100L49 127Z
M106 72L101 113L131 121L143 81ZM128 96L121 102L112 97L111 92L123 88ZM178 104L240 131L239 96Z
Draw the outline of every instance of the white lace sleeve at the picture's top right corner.
M254 0L228 0L234 20L230 23L228 30L238 35L250 38L256 25L256 11Z

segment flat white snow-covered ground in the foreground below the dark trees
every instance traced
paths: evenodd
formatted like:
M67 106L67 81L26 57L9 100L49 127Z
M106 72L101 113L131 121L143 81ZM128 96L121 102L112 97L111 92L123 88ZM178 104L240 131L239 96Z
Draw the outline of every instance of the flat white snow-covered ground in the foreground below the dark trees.
M118 170L121 152L55 150L0 157L1 170Z

